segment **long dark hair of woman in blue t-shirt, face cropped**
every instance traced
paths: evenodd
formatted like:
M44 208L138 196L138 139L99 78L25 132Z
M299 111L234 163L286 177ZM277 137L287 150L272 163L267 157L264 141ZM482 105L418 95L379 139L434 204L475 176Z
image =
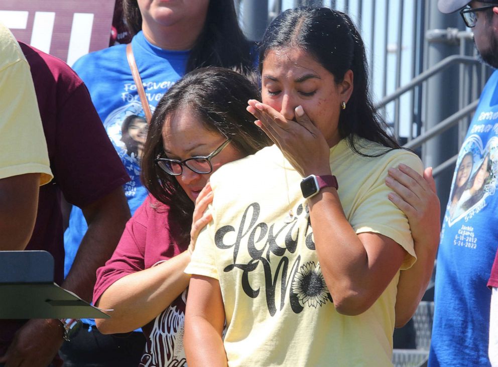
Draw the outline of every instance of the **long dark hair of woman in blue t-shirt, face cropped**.
M137 0L123 0L123 14L132 35L142 29ZM190 50L186 72L199 67L221 66L246 74L254 71L251 42L240 29L233 0L210 0L206 22Z

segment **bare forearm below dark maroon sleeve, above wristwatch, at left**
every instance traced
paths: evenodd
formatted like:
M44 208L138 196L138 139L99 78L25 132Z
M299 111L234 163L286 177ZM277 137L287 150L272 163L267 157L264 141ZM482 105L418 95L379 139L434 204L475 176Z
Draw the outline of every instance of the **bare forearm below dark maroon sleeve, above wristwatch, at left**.
M119 188L87 208L82 208L88 230L62 287L90 302L97 268L110 259L121 238L130 209Z

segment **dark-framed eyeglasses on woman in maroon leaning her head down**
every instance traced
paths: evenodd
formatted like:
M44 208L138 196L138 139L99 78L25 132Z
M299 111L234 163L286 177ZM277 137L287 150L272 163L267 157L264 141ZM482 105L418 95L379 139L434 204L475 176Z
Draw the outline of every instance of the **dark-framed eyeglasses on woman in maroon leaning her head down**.
M213 171L213 166L211 165L211 159L220 153L227 145L231 142L231 139L226 139L223 144L214 150L211 154L207 156L197 156L180 161L178 159L161 158L161 154L158 154L154 162L161 168L164 172L172 176L179 176L183 173L183 167L188 167L195 173L207 174Z

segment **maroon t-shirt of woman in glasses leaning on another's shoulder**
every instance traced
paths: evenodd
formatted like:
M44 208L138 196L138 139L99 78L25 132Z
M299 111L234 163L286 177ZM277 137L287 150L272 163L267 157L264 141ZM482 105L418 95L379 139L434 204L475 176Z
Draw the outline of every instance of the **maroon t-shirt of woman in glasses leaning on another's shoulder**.
M151 268L187 250L188 242L178 243L179 231L178 223L169 216L169 207L149 194L128 221L110 260L97 270L93 302L96 303L102 293L118 279ZM173 301L155 320L143 327L147 336L142 359L144 365L163 365L163 363L168 365L165 360L171 361L175 351L183 348L185 301L186 292ZM162 337L151 335L154 328L161 330L164 341ZM157 364L148 364L151 358L164 359ZM184 365L184 360L177 360L175 363L174 365L178 366Z

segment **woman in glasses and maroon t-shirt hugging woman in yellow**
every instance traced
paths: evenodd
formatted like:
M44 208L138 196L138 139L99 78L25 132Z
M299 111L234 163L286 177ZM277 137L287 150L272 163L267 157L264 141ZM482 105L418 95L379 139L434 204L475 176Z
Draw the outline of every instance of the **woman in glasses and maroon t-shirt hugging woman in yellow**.
M183 271L194 246L190 236L195 240L211 219L203 212L212 197L202 189L221 165L271 143L245 110L258 95L257 86L231 70L198 69L172 86L154 112L142 160L151 194L97 271L94 291L97 307L114 310L110 319L96 320L102 333L143 327L148 335L140 365L186 365L190 277Z

